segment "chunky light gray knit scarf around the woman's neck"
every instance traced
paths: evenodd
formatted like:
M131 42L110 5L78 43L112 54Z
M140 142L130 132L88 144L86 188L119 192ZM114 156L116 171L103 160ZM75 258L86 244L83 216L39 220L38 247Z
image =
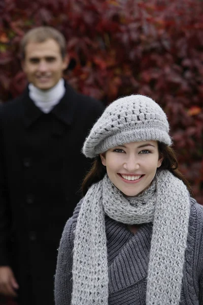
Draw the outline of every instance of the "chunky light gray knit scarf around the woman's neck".
M105 214L124 224L153 222L146 304L178 305L189 208L186 186L166 170L156 173L141 197L124 197L107 175L94 184L75 231L72 305L108 305Z

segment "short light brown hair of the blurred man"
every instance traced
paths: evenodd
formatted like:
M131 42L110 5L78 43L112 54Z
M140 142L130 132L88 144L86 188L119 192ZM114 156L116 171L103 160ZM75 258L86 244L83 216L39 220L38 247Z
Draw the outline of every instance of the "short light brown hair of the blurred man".
M64 36L57 29L51 26L39 26L30 29L22 38L20 42L22 59L25 58L25 47L29 42L41 43L48 39L53 39L58 43L61 56L64 58L66 54L66 41Z

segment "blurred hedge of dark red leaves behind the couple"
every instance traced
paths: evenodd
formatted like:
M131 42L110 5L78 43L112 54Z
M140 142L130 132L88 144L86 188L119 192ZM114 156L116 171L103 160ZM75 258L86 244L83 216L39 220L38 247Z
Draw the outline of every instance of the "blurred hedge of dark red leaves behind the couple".
M106 104L140 93L167 113L180 169L203 203L203 2L4 0L0 3L2 101L22 92L19 41L51 25L67 39L65 78Z

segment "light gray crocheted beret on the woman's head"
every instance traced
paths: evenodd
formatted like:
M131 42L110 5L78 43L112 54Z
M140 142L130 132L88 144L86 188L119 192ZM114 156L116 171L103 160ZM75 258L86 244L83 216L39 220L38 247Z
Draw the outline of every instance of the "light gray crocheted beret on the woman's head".
M111 103L92 127L83 154L94 158L109 148L137 141L172 144L167 117L152 99L131 95Z

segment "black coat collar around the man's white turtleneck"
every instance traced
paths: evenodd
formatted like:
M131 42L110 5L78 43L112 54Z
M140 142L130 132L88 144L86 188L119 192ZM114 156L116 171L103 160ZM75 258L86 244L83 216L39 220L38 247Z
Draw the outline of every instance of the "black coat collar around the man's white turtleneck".
M65 82L65 94L60 102L51 110L50 113L55 115L64 124L71 125L74 118L74 113L78 103L78 94L75 90ZM29 98L29 89L26 88L23 94L23 107L24 107L24 124L29 127L40 116L44 114L33 101Z

